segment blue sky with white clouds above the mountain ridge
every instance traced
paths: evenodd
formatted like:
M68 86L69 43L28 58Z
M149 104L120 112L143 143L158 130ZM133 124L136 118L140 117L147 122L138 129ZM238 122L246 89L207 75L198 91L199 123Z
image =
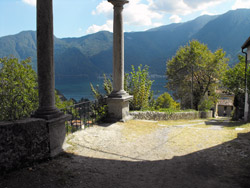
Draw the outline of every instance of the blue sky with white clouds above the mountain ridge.
M36 0L0 0L0 37L36 30ZM107 0L53 0L54 34L80 37L112 31L113 7ZM124 6L124 30L144 31L185 22L200 15L250 8L250 0L130 0Z

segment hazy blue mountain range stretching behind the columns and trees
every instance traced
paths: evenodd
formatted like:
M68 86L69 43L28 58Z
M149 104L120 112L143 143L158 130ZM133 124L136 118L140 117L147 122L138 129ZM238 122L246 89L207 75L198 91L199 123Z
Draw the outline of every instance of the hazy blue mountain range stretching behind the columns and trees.
M200 16L192 21L170 24L144 32L124 34L125 71L131 65L149 65L153 74L165 74L166 61L188 41L197 39L215 51L223 48L230 64L237 63L241 45L250 35L250 9L217 16ZM80 38L55 37L56 78L97 77L112 72L112 33L101 31ZM36 68L36 33L24 31L0 38L0 57L31 57Z

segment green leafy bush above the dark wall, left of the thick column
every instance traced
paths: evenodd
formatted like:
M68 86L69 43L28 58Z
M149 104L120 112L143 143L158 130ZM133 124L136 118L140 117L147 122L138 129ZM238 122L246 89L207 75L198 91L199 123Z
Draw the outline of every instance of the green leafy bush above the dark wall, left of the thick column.
M37 76L30 59L0 59L0 121L29 117L38 107Z

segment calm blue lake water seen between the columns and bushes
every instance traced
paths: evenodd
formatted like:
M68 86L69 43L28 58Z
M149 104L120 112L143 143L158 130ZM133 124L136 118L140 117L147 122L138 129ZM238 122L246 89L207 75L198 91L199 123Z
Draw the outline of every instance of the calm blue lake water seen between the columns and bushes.
M164 88L166 85L165 77L153 77L154 80L152 85L152 90L154 91L155 98L161 95L164 92L167 92L167 89ZM65 79L63 81L56 80L56 89L58 89L67 99L73 98L75 100L80 100L81 98L93 100L94 96L90 89L90 83L93 86L99 85L99 89L103 92L102 84L103 79L86 79L86 78L71 78Z

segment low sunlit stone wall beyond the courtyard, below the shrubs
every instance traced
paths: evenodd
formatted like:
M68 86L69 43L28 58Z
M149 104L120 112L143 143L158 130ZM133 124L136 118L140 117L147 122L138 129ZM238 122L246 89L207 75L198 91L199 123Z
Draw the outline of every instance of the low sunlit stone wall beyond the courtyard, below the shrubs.
M212 111L208 112L176 112L176 113L165 113L165 112L130 112L130 115L134 119L145 119L145 120L179 120L179 119L199 119L199 118L212 118Z

